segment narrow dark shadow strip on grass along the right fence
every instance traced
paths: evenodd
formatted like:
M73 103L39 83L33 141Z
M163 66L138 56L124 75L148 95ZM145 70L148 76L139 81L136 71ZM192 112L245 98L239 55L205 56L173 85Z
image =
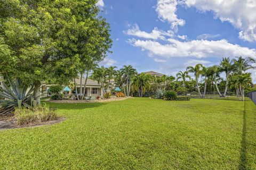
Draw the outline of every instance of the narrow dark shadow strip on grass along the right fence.
M247 167L247 140L246 140L246 101L244 101L244 112L243 112L243 133L242 133L242 145L240 151L240 164L239 169L246 169Z

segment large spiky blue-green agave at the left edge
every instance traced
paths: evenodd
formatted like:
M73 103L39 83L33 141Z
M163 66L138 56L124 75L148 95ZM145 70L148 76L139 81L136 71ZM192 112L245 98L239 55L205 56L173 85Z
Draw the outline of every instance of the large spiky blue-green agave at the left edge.
M16 78L14 81L8 80L10 87L4 82L0 86L0 97L5 98L4 100L0 100L0 116L11 113L15 107L29 108L33 105L31 103L33 103L34 87L26 86L20 78Z

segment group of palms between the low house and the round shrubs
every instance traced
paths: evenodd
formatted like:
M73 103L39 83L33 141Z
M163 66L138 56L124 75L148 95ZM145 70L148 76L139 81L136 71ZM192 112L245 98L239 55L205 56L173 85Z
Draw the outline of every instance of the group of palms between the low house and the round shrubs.
M146 92L158 88L170 88L170 82L175 80L172 76L153 77L150 74L138 73L131 65L124 65L122 69L116 70L115 66L97 67L93 70L91 79L98 81L104 92L119 87L125 96L138 94L143 97Z

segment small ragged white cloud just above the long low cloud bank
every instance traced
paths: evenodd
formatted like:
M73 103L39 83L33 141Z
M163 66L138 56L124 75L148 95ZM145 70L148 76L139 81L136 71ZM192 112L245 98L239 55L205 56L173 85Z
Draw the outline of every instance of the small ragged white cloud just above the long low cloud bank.
M154 30L150 33L141 31L139 26L137 24L134 24L131 29L124 31L127 35L130 36L137 36L140 38L147 38L147 39L165 39L166 37L172 37L173 32L172 31L163 31L158 30L157 28L154 28Z

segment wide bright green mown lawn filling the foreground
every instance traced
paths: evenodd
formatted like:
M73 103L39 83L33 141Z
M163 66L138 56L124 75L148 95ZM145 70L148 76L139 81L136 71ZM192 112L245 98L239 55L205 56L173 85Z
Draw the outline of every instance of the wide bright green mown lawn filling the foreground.
M0 131L1 169L256 169L251 101L50 105L68 119Z

